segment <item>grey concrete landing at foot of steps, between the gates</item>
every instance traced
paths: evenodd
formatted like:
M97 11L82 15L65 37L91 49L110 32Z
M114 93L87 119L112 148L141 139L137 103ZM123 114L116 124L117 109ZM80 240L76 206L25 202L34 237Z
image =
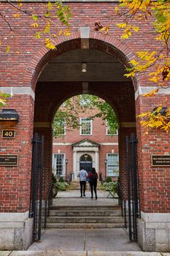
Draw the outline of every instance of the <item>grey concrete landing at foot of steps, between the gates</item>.
M28 251L140 251L123 228L49 229Z

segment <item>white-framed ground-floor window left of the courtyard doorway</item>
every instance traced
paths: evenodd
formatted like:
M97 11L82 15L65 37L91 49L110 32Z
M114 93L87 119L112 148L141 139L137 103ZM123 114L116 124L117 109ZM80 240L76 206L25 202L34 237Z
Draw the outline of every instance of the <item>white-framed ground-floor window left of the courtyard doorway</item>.
M53 155L53 173L55 176L65 175L64 154Z

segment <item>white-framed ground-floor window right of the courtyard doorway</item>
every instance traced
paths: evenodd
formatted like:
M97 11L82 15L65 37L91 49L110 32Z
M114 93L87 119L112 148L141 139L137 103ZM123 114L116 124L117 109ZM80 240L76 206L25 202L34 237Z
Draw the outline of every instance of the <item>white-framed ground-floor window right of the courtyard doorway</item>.
M118 154L107 154L107 176L118 176L119 158Z

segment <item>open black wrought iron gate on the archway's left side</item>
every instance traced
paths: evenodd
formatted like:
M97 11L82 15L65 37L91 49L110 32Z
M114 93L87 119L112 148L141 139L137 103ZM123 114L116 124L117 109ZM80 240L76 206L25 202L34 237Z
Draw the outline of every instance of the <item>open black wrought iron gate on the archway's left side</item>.
M33 241L41 239L44 136L34 135L29 217L34 218Z

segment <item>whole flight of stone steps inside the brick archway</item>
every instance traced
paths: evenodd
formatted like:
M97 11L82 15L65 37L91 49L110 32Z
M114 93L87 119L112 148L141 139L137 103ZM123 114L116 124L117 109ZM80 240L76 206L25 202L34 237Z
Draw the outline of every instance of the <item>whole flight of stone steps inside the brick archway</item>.
M120 206L52 206L47 228L124 227Z

